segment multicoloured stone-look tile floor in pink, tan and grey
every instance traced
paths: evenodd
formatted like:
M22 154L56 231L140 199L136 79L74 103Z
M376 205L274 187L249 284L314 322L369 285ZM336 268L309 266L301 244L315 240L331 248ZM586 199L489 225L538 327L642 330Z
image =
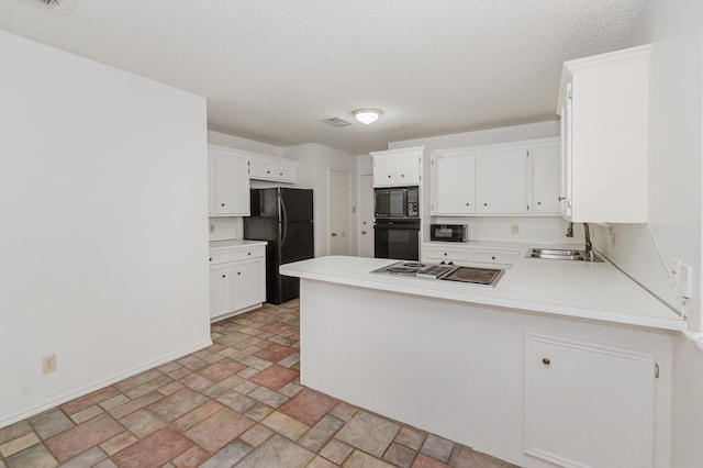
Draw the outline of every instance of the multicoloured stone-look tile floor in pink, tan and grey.
M0 468L510 467L299 383L298 301L214 344L0 428Z

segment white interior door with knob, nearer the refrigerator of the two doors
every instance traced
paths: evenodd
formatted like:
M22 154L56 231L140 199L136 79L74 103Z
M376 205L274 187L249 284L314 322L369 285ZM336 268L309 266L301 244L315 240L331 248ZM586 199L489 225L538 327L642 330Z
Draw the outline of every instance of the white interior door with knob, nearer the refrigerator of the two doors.
M349 200L349 171L330 169L327 180L330 182L330 220L328 247L330 255L349 255L350 249L350 212Z

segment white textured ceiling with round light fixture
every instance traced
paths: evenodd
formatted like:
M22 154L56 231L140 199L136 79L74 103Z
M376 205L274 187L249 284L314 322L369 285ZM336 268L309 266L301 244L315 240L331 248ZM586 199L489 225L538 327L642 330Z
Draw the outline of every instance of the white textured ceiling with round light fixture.
M203 96L210 130L364 154L555 119L561 64L623 47L644 1L2 0L0 29Z

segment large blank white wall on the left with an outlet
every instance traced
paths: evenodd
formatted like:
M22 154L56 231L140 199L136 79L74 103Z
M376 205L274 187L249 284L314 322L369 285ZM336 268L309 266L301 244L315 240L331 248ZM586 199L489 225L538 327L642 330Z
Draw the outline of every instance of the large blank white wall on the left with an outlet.
M207 346L210 321L205 100L4 32L0 56L4 426Z

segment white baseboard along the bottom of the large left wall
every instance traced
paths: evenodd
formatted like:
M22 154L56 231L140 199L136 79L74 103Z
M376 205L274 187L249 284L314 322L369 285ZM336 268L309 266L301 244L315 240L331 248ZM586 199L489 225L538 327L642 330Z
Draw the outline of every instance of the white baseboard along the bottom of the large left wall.
M129 377L136 376L137 374L143 372L145 370L158 367L161 364L169 363L171 360L181 358L181 357L187 356L187 355L189 355L191 353L194 353L197 350L207 348L208 346L212 346L212 339L207 339L204 342L200 342L198 344L194 344L194 345L189 346L187 348L180 349L178 352L168 354L166 356L161 356L158 359L154 359L154 360L152 360L149 363L146 363L146 364L140 366L140 367L135 367L133 369L130 369L130 370L126 370L124 372L121 372L121 374L118 374L115 376L112 376L112 377L110 377L108 379L104 379L104 380L98 381L96 383L89 385L87 387L83 387L81 389L71 391L71 392L66 393L66 394L64 394L62 397L58 397L58 398L49 400L49 401L47 401L45 403L42 403L42 404L40 404L37 406L33 406L33 408L31 408L31 409L29 409L26 411L22 411L21 413L14 414L14 415L10 416L9 419L0 421L0 428L4 427L4 426L9 426L10 424L14 424L14 423L16 423L19 421L26 420L27 417L32 417L34 415L41 414L44 411L51 410L52 408L58 406L59 404L64 404L67 401L74 400L74 399L79 398L79 397L83 397L83 395L86 395L88 393L91 393L91 392L93 392L96 390L100 390L101 388L104 388L104 387L111 386L111 385L113 385L115 382L119 382L120 380L124 380L124 379L126 379Z

